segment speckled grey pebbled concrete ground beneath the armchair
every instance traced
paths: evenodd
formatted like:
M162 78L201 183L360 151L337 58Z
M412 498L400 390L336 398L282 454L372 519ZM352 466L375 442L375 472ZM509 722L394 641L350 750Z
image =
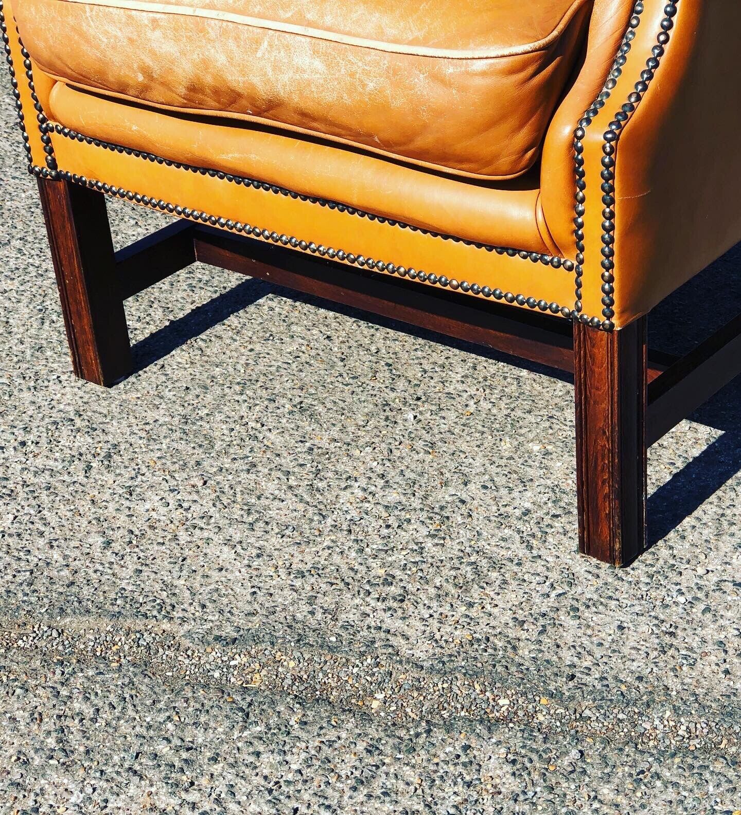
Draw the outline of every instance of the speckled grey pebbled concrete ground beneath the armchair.
M2 133L0 813L741 810L741 382L651 448L615 571L536 366L196 265L127 302L134 376L75 380Z

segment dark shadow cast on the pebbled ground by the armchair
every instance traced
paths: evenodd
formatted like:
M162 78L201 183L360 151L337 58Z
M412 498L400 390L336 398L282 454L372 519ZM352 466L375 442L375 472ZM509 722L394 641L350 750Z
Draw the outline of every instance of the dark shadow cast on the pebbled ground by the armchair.
M686 354L693 346L723 324L741 313L741 244L712 263L705 271L681 286L651 312L650 345L658 350ZM698 297L698 292L721 292L712 300ZM136 343L132 348L135 372L148 368L189 340L222 323L238 311L258 302L268 294L289 297L294 302L362 319L383 328L404 332L441 346L465 350L484 359L506 362L523 370L536 372L560 381L572 382L566 372L531 363L499 351L459 341L442 334L417 328L398 320L369 314L351 306L323 300L291 289L249 278L233 289L197 306L186 315ZM675 473L648 500L648 545L663 540L673 529L711 498L741 471L741 377L726 385L712 399L688 417L690 421L722 430L703 452Z

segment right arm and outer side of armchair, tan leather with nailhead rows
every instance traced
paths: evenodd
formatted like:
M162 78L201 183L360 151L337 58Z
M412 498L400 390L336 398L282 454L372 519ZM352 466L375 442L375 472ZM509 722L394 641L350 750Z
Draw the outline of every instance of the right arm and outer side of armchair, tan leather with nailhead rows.
M562 252L582 249L582 312L618 328L741 239L741 3L643 0L635 11L624 64L612 81L603 74L604 104L571 120L580 126L576 149L567 117L578 109L584 74L603 68L589 52L554 117L540 200ZM575 165L584 171L583 248L574 233Z

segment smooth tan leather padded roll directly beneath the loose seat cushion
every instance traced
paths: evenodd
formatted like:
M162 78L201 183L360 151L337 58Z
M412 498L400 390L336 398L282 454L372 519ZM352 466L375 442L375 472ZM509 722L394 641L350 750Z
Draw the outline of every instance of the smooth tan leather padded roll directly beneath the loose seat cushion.
M42 77L39 72L34 77ZM37 81L37 84L38 81ZM487 245L505 245L547 253L552 246L545 224L539 221L537 168L509 181L451 178L420 167L409 167L302 134L266 128L251 122L225 121L174 114L140 104L107 99L56 82L45 107L51 121L90 139L152 153L161 159L208 168L212 173L257 178L299 194L339 201L376 216L420 229ZM55 153L69 139L55 137ZM89 146L90 152L111 156L109 150ZM143 162L139 162L142 164ZM136 166L136 165L135 165ZM80 172L60 160L63 170ZM215 174L215 173L214 173ZM194 175L179 171L186 184ZM114 182L108 174L100 180ZM126 179L130 188L139 178ZM224 200L216 210L228 209L236 185L224 181ZM171 195L170 191L167 192ZM176 204L202 208L190 194ZM315 207L314 209L320 209ZM242 221L259 220L260 213L241 213ZM346 219L352 229L359 218ZM395 232L403 230L396 228ZM311 228L308 230L311 235ZM342 238L335 239L342 245ZM350 240L346 236L346 240ZM461 272L462 273L462 272Z

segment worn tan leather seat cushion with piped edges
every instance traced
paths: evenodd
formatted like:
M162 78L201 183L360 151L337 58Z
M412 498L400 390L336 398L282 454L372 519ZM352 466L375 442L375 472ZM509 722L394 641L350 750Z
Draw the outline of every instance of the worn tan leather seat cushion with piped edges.
M51 76L455 174L537 160L591 0L18 0Z

